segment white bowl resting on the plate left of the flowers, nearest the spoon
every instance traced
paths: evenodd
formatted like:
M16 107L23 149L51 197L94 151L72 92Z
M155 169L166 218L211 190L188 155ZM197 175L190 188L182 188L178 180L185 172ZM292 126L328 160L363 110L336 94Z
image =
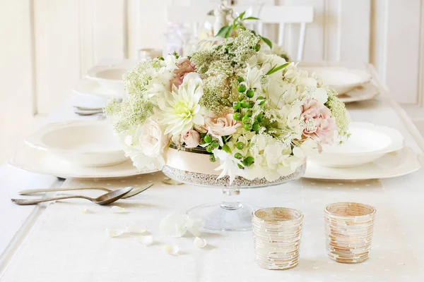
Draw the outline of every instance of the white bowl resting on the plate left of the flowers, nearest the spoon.
M28 136L25 143L78 166L112 166L127 159L107 121L49 123Z

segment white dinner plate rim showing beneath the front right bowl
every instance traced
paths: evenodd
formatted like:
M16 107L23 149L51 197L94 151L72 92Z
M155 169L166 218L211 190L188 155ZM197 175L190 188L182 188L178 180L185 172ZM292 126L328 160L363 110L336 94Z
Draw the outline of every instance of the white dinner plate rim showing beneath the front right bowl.
M304 178L326 180L365 180L404 176L421 168L420 157L408 147L362 166L351 168L330 168L307 161Z

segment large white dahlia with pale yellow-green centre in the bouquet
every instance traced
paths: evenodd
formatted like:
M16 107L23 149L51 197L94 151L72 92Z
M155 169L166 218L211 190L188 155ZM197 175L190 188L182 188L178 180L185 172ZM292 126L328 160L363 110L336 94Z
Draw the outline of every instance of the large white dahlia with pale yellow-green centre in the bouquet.
M192 129L194 125L204 124L204 111L199 105L202 95L199 74L188 73L179 88L172 87L172 92L167 94L166 99L158 99L163 116L161 123L166 125L165 134L179 135Z

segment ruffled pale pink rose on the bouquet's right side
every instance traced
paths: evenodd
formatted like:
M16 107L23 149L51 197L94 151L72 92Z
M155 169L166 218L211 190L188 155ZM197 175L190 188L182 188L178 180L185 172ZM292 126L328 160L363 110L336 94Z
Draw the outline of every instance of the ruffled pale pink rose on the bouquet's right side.
M305 121L303 135L311 137L322 144L334 142L336 120L331 118L331 111L315 99L308 100L302 106L302 118Z

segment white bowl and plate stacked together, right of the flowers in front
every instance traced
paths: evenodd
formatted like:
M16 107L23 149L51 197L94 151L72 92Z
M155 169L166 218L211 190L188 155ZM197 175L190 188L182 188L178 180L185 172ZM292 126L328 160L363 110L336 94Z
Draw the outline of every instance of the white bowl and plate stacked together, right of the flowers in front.
M372 123L349 124L351 137L323 145L322 154L308 157L305 178L360 180L403 176L420 168L418 155L404 147L402 134Z

